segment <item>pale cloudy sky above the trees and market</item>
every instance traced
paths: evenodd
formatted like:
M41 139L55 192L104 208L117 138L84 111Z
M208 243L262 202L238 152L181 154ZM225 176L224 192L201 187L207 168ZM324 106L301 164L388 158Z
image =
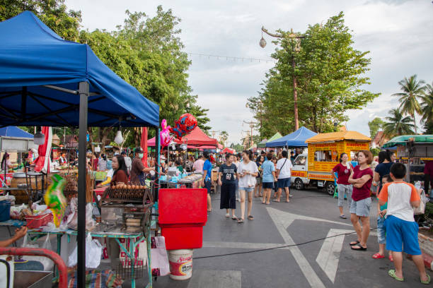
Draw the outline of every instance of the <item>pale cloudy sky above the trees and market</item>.
M417 74L433 82L431 0L67 0L66 4L81 10L82 28L88 30L115 30L127 9L154 16L158 5L171 8L181 18L178 28L184 51L191 53L189 85L198 95L198 104L209 109L212 131L227 131L228 143L240 143L246 136L249 126L243 122L254 120L247 99L258 95L265 73L274 64L266 61L275 50L272 38L264 35L267 46L259 46L262 26L270 31L304 32L308 25L345 13L354 47L370 52L371 70L366 76L371 85L365 89L381 93L363 109L346 112L349 130L369 135L368 121L398 107L391 95L399 92L398 81L404 77Z

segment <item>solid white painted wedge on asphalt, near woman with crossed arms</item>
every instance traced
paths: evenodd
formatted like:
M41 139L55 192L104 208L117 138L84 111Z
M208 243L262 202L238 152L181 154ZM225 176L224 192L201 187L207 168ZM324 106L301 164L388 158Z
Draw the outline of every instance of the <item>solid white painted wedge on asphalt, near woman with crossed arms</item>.
M321 251L319 251L316 262L321 266L323 272L328 276L331 282L335 282L337 275L338 261L345 235L335 236L353 232L353 230L330 229L326 237L331 237L323 241Z

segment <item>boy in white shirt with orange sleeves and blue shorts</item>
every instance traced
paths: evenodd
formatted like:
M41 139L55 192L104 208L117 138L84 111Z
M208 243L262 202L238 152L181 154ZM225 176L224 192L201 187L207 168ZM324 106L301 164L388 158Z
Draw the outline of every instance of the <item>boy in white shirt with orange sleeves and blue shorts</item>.
M418 243L418 224L413 217L413 207L420 206L420 194L415 186L403 181L406 167L401 163L391 166L390 176L393 182L383 186L379 194L379 205L388 202L386 211L386 249L393 251L396 269L388 271L388 275L398 281L403 278L403 251L412 255L413 263L420 271L422 284L429 284L430 276L425 272L424 260Z

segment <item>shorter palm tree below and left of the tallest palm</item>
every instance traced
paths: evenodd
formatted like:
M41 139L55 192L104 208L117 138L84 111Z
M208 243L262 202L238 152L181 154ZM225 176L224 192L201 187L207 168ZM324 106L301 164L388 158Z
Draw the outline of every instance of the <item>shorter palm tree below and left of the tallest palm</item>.
M391 109L388 114L390 116L385 117L386 121L383 124L383 134L389 138L393 138L399 135L413 134L412 128L415 126L410 122L409 116L404 116L400 109Z

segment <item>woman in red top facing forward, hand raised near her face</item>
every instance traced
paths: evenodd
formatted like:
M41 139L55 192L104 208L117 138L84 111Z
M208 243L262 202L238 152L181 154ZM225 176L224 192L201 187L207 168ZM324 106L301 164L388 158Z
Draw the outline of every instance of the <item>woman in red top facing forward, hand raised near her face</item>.
M352 203L352 184L349 183L349 176L352 173L352 165L347 162L349 157L346 153L341 153L340 163L335 165L332 169L331 174L334 179L337 179L338 189L338 209L340 209L340 218L347 219L343 213L343 203L345 202L345 196L347 197L347 205ZM338 174L338 178L335 177L335 172Z

